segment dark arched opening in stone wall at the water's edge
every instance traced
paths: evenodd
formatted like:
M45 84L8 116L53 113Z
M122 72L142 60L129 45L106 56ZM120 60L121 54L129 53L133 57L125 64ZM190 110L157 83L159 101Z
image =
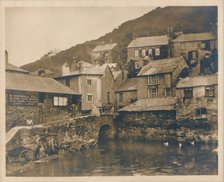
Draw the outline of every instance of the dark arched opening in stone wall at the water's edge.
M106 140L113 139L114 132L110 125L103 125L99 130L98 141L103 142Z

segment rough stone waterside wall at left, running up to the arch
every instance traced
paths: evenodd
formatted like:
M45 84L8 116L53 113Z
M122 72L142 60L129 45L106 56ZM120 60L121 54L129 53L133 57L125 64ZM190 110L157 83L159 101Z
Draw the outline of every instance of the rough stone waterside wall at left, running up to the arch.
M98 141L99 131L105 125L115 136L111 115L85 116L24 128L7 143L7 157L9 161L21 162L82 150Z

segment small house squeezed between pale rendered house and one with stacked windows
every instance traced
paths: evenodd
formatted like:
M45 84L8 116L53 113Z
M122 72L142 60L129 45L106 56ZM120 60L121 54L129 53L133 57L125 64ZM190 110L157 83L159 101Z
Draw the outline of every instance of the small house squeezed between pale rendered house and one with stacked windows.
M118 109L137 100L138 78L128 78L115 90Z

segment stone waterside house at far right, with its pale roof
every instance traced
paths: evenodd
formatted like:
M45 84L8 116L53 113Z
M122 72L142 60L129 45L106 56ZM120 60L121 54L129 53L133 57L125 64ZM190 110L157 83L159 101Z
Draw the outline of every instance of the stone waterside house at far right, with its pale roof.
M177 84L177 119L208 120L217 125L218 76L187 77Z

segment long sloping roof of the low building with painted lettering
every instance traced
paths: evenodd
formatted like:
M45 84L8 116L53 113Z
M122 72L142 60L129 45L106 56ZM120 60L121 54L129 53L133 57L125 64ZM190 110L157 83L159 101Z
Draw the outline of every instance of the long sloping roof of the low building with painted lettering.
M80 95L52 78L6 72L6 89Z

